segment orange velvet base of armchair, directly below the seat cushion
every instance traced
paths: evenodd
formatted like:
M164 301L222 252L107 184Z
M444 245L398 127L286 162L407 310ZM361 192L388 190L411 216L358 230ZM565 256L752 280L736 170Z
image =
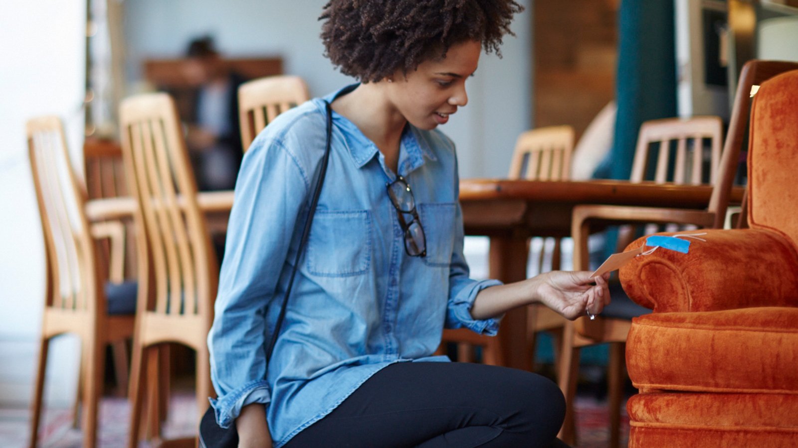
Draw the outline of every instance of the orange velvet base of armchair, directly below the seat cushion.
M626 403L631 446L795 446L798 395L648 393Z

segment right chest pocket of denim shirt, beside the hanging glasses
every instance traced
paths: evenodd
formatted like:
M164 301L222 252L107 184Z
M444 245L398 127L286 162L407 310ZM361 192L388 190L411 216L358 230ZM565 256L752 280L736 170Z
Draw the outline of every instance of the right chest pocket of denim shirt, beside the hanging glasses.
M457 234L454 203L419 204L418 217L424 228L427 244L426 265L447 266L452 264L452 250Z

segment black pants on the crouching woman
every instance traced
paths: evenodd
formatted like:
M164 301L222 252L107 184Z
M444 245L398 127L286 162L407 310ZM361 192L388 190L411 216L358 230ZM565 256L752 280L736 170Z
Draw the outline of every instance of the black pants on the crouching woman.
M369 378L286 444L437 448L565 446L565 400L549 379L466 363L401 363Z

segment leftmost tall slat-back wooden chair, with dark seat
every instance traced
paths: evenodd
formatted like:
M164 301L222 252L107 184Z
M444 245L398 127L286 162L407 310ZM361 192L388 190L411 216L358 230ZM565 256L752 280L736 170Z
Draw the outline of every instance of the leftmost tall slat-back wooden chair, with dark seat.
M81 339L83 446L96 446L105 345L132 337L136 291L109 289L105 283L107 273L98 261L94 238L109 238L116 227L92 225L86 218L85 189L69 163L61 121L54 116L34 118L26 130L47 261L30 446L36 446L41 420L49 342L65 333Z

